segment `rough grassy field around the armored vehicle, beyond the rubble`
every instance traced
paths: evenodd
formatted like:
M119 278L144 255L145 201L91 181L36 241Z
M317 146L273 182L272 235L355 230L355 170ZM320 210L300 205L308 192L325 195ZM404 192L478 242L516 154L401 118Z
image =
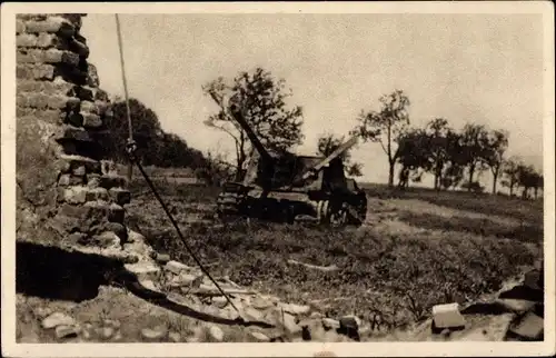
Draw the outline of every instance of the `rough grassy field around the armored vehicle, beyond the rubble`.
M388 327L420 320L436 304L493 292L542 258L542 201L367 185L367 221L357 229L254 220L214 225L218 188L156 185L215 275L331 316L378 317ZM131 189L128 225L157 250L193 265L143 181ZM339 270L310 270L289 259Z

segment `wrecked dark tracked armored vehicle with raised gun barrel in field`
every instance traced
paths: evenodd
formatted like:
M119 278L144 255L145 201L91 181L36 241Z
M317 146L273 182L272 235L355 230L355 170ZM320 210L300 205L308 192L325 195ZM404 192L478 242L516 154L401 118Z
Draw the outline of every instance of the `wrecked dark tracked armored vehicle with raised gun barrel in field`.
M294 222L310 217L322 225L360 226L366 218L367 197L345 175L340 155L357 142L353 137L327 157L298 156L267 150L238 107L231 117L248 136L251 156L241 182L225 182L217 199L220 218L250 217Z

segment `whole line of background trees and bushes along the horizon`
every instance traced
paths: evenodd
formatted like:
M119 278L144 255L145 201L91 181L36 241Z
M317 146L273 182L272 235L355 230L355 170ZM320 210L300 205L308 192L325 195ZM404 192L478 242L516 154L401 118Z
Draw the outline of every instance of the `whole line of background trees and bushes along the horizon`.
M224 153L203 153L190 148L179 136L162 130L157 115L137 99L130 99L133 137L138 143L138 158L145 165L183 167L195 170L196 176L210 183L221 180L241 180L245 165L252 155L245 130L229 118L231 106L240 108L251 129L262 145L271 151L290 150L300 145L305 136L302 108L288 106L292 97L284 79L257 68L241 71L230 81L219 77L202 86L205 95L218 106L216 113L205 125L225 132L235 143L232 162ZM364 142L378 143L388 161L388 185L406 188L410 181L420 182L424 175L431 175L434 188L455 188L483 191L478 177L490 171L492 192L497 185L514 195L523 189L524 197L537 197L543 188L543 175L518 157L506 157L509 133L489 130L484 125L467 123L461 130L454 129L447 119L434 118L423 128L411 127L409 98L403 90L379 98L378 110L361 110L350 136L359 136ZM126 103L117 98L112 106L112 120L108 122L110 138L103 143L110 159L127 162L125 143L128 138ZM315 155L327 156L346 140L334 133L321 133L315 145ZM342 155L346 175L361 176L364 165L351 160L350 151Z

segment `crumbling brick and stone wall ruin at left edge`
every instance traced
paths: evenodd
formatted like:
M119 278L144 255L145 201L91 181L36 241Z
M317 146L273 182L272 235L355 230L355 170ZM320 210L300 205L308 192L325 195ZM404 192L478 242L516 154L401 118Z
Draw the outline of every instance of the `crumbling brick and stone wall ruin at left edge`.
M18 240L123 243L126 179L103 170L110 102L79 30L85 14L17 17Z

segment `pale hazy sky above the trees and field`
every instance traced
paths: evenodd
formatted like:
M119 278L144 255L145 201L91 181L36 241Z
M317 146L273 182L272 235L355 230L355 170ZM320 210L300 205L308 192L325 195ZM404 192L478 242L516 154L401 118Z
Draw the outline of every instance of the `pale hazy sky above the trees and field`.
M129 96L162 128L202 151L232 153L203 120L217 111L202 84L257 67L282 78L304 109L305 142L344 136L381 95L409 97L413 126L436 117L509 132L508 156L543 165L543 22L538 14L120 14ZM100 87L123 96L113 14L81 29ZM361 180L387 182L378 143L359 143ZM485 172L485 183L490 176ZM430 182L430 181L428 181Z

